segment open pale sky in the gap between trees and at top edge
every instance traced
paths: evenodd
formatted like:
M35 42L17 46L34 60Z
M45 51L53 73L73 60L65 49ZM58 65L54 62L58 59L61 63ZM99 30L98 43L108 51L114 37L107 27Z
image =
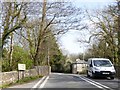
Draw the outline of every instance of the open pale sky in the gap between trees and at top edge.
M86 9L102 9L113 4L115 0L71 0L74 6ZM85 52L88 44L78 42L78 39L88 39L89 33L81 31L69 31L60 38L61 48L64 54L79 54Z

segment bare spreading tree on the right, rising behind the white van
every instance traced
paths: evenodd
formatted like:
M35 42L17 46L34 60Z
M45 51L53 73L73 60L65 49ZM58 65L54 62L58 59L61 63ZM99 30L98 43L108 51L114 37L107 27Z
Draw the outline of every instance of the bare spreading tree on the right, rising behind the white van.
M95 11L95 15L89 15L88 17L90 21L93 23L94 31L92 32L92 35L89 38L89 41L92 37L97 38L99 41L105 41L108 45L109 49L111 50L112 59L115 63L118 63L118 57L117 54L119 50L118 43L119 42L119 36L117 36L119 30L116 28L118 27L116 22L116 7L115 6L109 6L107 9L102 11Z

